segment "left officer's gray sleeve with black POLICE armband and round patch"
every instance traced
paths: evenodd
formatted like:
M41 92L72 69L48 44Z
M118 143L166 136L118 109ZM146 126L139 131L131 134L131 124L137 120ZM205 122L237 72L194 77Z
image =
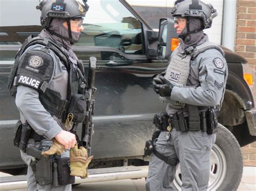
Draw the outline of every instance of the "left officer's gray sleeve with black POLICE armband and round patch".
M45 110L39 100L42 84L48 84L53 76L55 62L42 47L28 49L19 61L17 71L16 105L33 130L49 139L55 137L62 128Z

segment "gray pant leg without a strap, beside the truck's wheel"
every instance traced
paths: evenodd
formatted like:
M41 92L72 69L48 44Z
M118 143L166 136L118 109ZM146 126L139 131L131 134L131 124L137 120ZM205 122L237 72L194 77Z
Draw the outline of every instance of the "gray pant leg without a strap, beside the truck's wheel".
M216 135L202 131L180 132L178 152L182 190L206 191L210 176L210 152Z

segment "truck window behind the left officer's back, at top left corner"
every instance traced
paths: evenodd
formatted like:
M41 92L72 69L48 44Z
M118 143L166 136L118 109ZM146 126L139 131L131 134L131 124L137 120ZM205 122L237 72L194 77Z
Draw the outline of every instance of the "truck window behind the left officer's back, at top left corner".
M39 1L0 1L0 45L22 45L31 34L37 36L41 12L36 10Z

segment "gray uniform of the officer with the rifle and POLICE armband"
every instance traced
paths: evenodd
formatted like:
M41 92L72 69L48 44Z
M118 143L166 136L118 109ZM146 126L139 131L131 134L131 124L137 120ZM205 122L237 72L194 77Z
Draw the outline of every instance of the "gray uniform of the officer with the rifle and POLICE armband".
M39 51L41 47L41 45L33 45L26 49L23 56L30 51ZM68 71L55 53L50 51L48 54L50 54L53 60L53 74L51 76L48 88L57 91L60 93L62 100L66 100L68 92ZM21 56L21 60L22 59L23 57ZM70 60L73 64L77 63L77 58L72 58L70 56ZM45 138L49 139L42 141L42 147L46 151L52 144L50 139L55 137L60 131L62 131L62 129L64 129L64 124L61 122L61 119L51 116L49 112L45 110L38 97L38 91L31 87L21 85L17 87L16 105L20 111L21 121L22 123L28 121L33 130L35 130L39 135L43 135ZM33 143L34 140L29 139L27 146ZM40 186L36 184L35 175L30 167L32 160L35 159L22 151L21 156L28 165L28 190L71 190L71 185L54 188L52 185ZM69 157L69 151L63 152L62 157Z

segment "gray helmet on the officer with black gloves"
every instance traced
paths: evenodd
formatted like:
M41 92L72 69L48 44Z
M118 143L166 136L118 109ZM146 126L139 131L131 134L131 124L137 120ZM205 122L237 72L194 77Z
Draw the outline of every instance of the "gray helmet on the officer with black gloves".
M185 0L174 6L172 9L173 17L196 17L203 20L204 28L212 26L213 18L218 16L217 10L211 4L205 4L199 0Z

